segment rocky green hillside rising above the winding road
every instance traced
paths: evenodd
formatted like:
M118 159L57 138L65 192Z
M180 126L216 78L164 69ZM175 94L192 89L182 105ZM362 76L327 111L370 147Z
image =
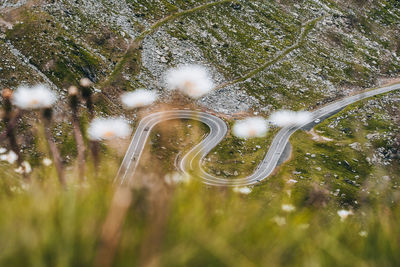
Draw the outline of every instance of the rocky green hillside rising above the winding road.
M398 75L399 24L396 0L2 0L0 87L85 76L107 112L139 87L168 101L164 71L198 63L216 81L201 107L311 109Z

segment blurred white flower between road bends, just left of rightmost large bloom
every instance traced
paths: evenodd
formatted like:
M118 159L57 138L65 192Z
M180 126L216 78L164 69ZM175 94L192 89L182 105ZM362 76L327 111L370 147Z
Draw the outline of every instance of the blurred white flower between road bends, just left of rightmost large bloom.
M239 138L263 137L267 134L268 125L264 118L252 117L237 121L232 130Z

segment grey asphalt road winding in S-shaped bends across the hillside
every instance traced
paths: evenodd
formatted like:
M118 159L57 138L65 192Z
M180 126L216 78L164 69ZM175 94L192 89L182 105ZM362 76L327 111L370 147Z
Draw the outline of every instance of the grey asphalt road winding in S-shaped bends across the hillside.
M328 104L312 112L312 119L303 125L289 126L282 128L272 140L270 148L256 167L255 171L245 177L238 179L225 179L213 176L207 173L203 167L203 159L219 142L224 139L228 132L226 123L211 114L191 110L171 110L150 114L144 117L132 138L129 148L122 161L121 167L116 177L116 183L129 184L135 174L143 152L146 141L151 130L155 125L162 121L174 119L192 119L206 124L210 128L210 133L199 144L193 147L179 162L179 169L186 175L196 177L203 183L213 186L246 186L252 185L266 179L276 168L280 158L283 155L286 145L289 143L290 136L297 130L318 124L323 119L332 116L344 107L368 97L387 93L400 89L400 84L373 89L353 96L343 98L342 100Z

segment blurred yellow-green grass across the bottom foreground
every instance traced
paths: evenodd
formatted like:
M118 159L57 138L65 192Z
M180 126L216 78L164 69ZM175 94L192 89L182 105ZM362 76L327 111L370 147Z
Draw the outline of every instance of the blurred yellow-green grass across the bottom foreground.
M118 163L105 156L84 184L71 171L67 190L51 167L36 168L28 185L1 165L0 266L95 265ZM310 204L278 178L249 195L156 179L132 189L112 266L400 264L399 196L390 188L341 221L336 200Z

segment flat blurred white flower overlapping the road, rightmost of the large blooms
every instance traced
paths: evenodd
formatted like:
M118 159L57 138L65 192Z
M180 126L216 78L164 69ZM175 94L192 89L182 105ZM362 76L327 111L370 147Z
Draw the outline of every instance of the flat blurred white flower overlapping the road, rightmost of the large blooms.
M269 121L276 126L285 127L291 125L304 125L312 121L310 112L307 111L291 111L291 110L280 110L272 113Z

